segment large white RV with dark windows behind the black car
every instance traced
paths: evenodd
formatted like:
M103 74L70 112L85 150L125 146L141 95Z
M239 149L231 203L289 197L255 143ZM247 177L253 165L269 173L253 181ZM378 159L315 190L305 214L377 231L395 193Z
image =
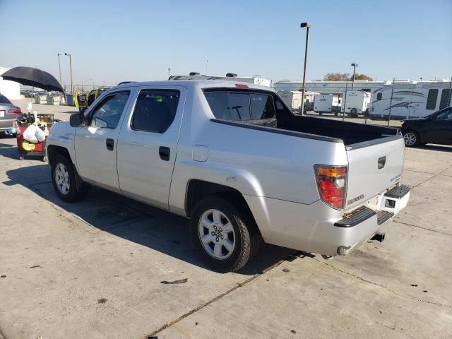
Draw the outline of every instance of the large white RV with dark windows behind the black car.
M392 94L392 102L391 102ZM451 105L451 81L417 83L387 82L372 91L371 119L425 117ZM348 99L347 99L348 100ZM347 104L348 106L348 104Z

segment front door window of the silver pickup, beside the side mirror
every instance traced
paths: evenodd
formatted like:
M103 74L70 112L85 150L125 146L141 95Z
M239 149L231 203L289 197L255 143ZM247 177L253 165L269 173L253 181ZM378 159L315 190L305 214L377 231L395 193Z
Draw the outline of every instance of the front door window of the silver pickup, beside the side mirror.
M129 91L119 92L105 97L91 114L90 126L104 129L116 129L121 114L129 99Z

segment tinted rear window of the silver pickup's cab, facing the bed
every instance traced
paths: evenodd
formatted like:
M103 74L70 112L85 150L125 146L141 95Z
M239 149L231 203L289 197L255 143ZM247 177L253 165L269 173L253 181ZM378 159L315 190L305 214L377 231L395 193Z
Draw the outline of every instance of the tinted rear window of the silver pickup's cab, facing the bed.
M213 115L222 120L273 119L272 95L246 92L206 92Z

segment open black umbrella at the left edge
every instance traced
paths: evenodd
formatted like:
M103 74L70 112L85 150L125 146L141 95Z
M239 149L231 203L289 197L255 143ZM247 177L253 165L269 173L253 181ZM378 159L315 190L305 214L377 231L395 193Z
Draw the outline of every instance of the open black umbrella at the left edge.
M32 67L14 67L1 74L4 80L16 81L26 86L34 86L43 90L55 90L64 93L64 89L52 74Z

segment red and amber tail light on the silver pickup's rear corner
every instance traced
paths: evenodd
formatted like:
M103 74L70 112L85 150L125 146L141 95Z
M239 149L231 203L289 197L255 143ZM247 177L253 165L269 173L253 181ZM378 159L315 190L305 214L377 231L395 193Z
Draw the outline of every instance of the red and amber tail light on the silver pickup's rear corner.
M314 166L321 200L336 209L345 208L347 166Z

